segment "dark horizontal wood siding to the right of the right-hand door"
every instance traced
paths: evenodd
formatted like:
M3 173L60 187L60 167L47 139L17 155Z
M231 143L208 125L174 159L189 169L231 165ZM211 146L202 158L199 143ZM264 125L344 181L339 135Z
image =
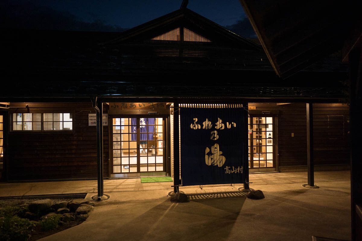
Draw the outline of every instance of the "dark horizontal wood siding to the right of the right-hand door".
M279 166L307 165L306 104L249 103L249 106L256 106L256 111L278 111ZM315 165L349 164L348 119L346 104L313 104Z

